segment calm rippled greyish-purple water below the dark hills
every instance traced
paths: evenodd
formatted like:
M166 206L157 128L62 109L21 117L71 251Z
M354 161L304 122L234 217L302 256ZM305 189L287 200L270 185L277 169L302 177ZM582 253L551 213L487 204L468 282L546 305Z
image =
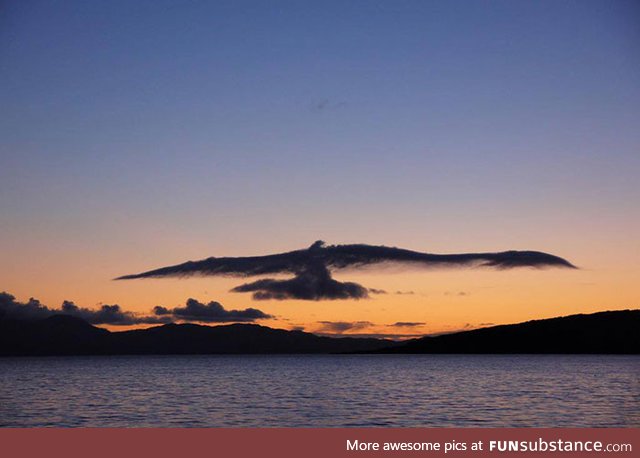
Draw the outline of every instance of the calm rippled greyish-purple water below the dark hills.
M640 426L638 356L0 358L1 426Z

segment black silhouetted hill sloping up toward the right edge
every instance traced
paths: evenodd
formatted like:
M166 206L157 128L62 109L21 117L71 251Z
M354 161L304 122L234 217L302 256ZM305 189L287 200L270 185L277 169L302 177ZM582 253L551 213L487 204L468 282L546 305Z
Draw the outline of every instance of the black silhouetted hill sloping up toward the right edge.
M380 353L640 353L640 310L493 326L405 342Z

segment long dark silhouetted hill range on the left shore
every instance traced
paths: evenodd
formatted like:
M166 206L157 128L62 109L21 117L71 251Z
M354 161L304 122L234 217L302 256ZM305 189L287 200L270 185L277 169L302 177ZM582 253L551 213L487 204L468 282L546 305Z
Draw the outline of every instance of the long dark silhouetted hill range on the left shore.
M382 339L320 337L255 324L167 324L109 332L68 315L0 320L0 356L346 353L394 344Z

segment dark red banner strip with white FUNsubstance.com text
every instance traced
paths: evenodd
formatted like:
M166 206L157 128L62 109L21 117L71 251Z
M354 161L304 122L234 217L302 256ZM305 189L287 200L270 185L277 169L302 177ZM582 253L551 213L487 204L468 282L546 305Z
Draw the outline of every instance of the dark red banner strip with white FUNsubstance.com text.
M499 441L601 441L630 444L628 452L490 452L491 440ZM483 441L478 451L348 451L347 440L361 442L446 442L471 444ZM220 428L220 429L112 429L33 428L0 429L0 456L7 458L191 458L191 457L364 457L364 456L640 456L640 429L573 428Z

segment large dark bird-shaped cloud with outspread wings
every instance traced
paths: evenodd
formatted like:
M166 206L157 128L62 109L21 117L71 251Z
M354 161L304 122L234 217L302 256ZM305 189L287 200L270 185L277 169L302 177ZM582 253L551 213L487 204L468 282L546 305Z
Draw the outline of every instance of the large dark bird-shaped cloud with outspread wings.
M294 277L291 279L262 279L242 284L233 288L232 291L252 292L254 299L258 300L363 299L369 297L369 293L381 291L368 289L357 283L339 282L332 278L331 271L382 264L398 264L414 268L575 268L565 259L539 251L431 254L364 244L327 246L324 242L317 241L303 250L267 256L211 257L139 274L124 275L116 280L194 275L252 277L293 274Z

